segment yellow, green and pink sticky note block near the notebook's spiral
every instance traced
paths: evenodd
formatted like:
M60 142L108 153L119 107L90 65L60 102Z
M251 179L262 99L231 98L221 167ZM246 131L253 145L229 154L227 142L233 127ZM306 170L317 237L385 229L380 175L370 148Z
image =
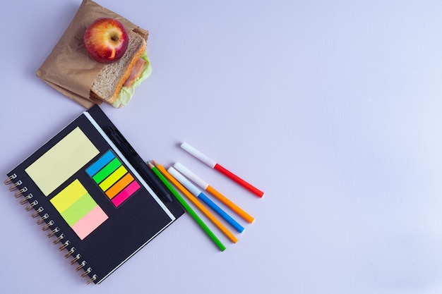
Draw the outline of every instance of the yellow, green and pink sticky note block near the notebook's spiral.
M81 240L108 219L78 179L61 190L50 202Z

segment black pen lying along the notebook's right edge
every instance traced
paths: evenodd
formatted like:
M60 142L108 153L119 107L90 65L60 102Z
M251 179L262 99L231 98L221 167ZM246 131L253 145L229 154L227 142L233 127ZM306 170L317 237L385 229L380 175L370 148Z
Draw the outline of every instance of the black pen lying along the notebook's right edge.
M155 190L155 192L163 197L168 202L172 202L172 195L168 192L165 185L155 175L155 173L149 169L148 165L141 159L136 151L131 147L129 142L121 135L117 128L109 127L109 136L115 145L124 153L126 158L132 164L132 166L141 173L141 176L148 182L148 184Z

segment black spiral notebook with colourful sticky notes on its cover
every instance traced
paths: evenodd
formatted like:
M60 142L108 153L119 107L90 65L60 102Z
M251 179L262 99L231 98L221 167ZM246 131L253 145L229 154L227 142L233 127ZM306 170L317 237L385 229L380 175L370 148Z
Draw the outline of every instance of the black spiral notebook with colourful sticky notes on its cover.
M5 181L88 283L102 282L184 214L179 202L155 194L111 130L92 106Z

